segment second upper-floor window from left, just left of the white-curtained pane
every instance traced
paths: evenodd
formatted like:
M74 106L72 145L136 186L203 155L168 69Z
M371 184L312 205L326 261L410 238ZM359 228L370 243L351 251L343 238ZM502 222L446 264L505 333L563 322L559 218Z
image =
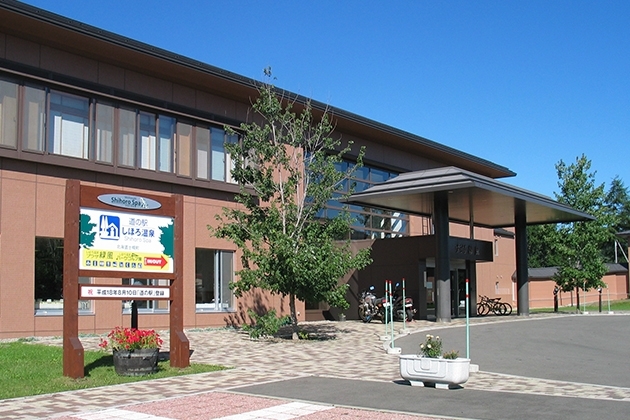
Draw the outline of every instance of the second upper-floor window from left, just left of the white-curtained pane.
M22 147L44 151L44 120L46 117L46 91L24 87L22 103Z

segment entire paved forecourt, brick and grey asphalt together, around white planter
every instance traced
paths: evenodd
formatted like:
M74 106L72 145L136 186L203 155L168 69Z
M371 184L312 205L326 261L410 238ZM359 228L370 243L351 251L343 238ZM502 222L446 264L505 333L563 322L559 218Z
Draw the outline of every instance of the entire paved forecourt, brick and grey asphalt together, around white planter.
M449 325L415 321L407 324L405 331L402 331L403 324L396 323L398 338L395 345L402 347L404 352L417 353L418 343L423 341L424 334L433 331L443 338L445 349L457 349L464 356L465 340L464 347L461 347L461 338L465 338L463 323L463 319L455 319ZM304 417L314 420L336 416L352 418L352 415L356 418L418 419L417 416L422 414L425 418L531 419L567 418L570 415L573 419L580 419L589 418L597 410L605 410L603 417L614 419L626 418L630 410L630 382L620 384L606 380L606 372L612 379L617 378L615 375L630 378L627 365L630 346L619 341L621 335L626 339L630 337L628 316L473 318L470 328L471 337L475 340L471 344L472 362L479 364L480 371L471 374L463 389L450 391L406 385L399 375L398 357L384 351L387 344L381 341L381 336L385 335L383 324L316 322L305 323L302 328L320 339L257 342L231 329L186 331L193 350L191 362L221 364L233 369L3 400L0 401L0 418L92 419L100 415L98 418L209 419L246 415L249 417L238 418ZM604 330L609 331L613 338L597 336L588 339L589 332ZM568 335L569 343L572 343L575 336L571 334L575 331L583 339L567 346L567 341L561 337ZM163 336L167 337L168 333ZM532 348L518 341L522 337L535 338L534 353L546 360L551 359L551 368L536 370L538 368L528 360ZM99 341L96 337L81 340L85 348L94 349ZM37 342L61 345L59 338L44 338ZM585 342L591 345L585 346ZM618 345L615 345L616 342ZM598 343L601 345L598 346ZM168 342L164 347L168 348ZM492 352L488 348L493 349ZM618 353L598 353L598 349L613 351L616 348L619 348ZM606 364L608 370L604 370L602 375L575 376L571 373L575 369L557 366L554 358L545 357L551 353L569 361L579 360L580 357L585 361L596 358L585 365L596 370L597 365ZM531 369L510 371L505 368L515 365L521 366L519 369L527 366ZM567 371L569 376L566 376ZM589 375L588 372L585 375ZM600 376L604 379L598 379ZM418 403L419 399L422 404ZM218 408L221 401L232 411L234 407L240 407L240 411L224 415L226 411ZM296 401L329 409L335 406L335 410L343 412L318 410L310 405L310 411L304 409L303 412L301 408L285 407L285 404ZM512 408L506 405L508 402ZM264 417L255 417L257 414L254 412L266 405L278 406L281 411L295 409L302 414L275 413L265 417L269 413L264 412ZM174 410L176 406L179 408ZM518 407L517 412L512 411L514 407ZM537 410L545 408L546 415L541 417ZM356 409L376 412L368 415ZM509 414L506 409L510 410ZM196 410L197 414L191 414L190 410ZM392 417L393 412L402 417ZM139 417L139 413L149 417Z

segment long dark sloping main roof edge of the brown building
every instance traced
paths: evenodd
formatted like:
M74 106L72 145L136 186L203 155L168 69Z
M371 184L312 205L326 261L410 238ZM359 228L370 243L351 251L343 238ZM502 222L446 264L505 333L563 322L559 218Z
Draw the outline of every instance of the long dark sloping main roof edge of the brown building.
M251 103L260 84L254 79L14 0L0 0L0 22L2 31L9 34L244 103ZM298 105L307 101L307 98L291 92L282 93L296 100ZM313 101L312 105L316 113L329 111L340 132L378 139L444 165L466 168L492 178L516 175L504 166L357 114L317 101Z

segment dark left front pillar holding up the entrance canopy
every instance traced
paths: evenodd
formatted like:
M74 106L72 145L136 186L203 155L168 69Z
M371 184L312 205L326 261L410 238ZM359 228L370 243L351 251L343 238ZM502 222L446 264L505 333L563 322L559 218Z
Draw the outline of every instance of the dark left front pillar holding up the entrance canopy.
M448 192L433 196L433 225L435 227L435 284L437 322L451 322L451 262L448 252Z

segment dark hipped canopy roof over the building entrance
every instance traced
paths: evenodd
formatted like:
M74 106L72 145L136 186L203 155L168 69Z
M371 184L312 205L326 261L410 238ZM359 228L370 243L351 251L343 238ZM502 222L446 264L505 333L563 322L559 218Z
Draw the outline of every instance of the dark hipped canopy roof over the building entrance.
M472 215L477 226L514 226L519 201L524 203L528 225L594 219L547 196L453 166L407 172L345 201L430 216L433 195L440 191L448 192L448 214L454 222L469 224Z

